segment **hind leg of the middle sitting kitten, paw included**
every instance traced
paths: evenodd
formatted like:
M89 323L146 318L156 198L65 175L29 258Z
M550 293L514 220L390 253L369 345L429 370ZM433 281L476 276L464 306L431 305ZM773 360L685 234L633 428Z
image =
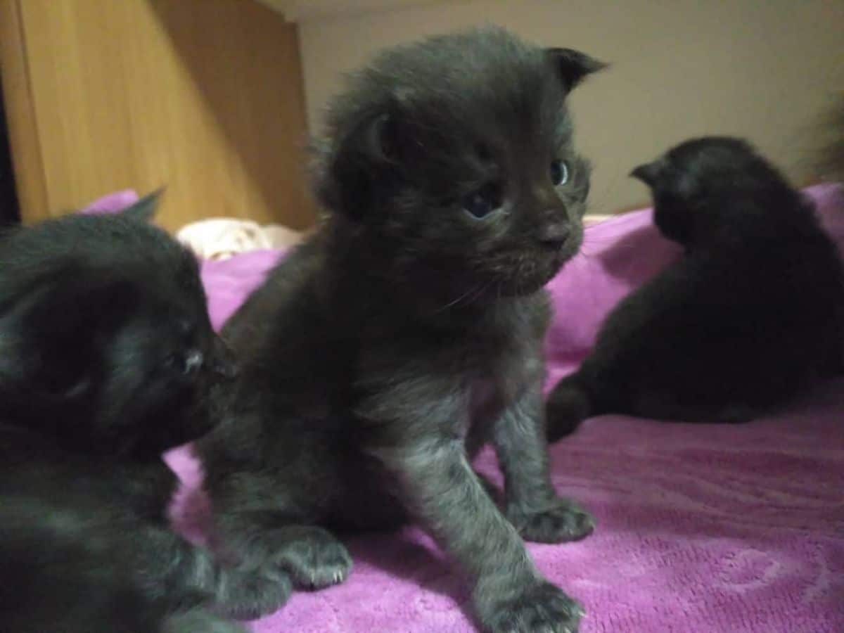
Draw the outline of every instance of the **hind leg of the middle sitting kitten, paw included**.
M289 441L280 442L278 450L266 449L284 468L262 470L261 461L257 468L244 468L249 452L232 454L232 442L224 435L209 436L200 444L219 544L215 549L234 565L284 574L300 588L343 582L352 568L349 551L315 525L337 501L343 481L339 458L326 449L326 433L307 427L291 431L284 425L298 426L292 417L280 424L280 437L288 439L289 433ZM262 436L260 429L251 411L239 415L238 446L279 442L279 436Z

